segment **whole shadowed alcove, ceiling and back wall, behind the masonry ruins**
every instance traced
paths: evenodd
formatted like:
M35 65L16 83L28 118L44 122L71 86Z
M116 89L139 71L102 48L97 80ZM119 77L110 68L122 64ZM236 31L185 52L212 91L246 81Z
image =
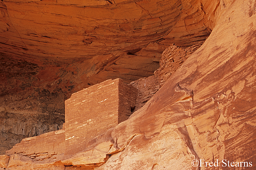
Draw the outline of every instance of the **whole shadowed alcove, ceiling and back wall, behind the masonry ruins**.
M220 3L0 0L1 154L25 137L61 129L72 93L149 77L171 44L203 42Z

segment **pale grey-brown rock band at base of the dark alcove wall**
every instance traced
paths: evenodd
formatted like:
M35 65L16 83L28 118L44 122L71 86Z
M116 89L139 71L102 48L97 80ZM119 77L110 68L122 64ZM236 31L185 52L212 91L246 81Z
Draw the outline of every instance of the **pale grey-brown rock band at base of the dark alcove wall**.
M0 149L3 152L2 154L5 153L5 150L9 150L16 143L19 143L23 138L37 136L62 128L62 125L54 122L45 123L42 120L43 118L40 118L40 115L31 116L5 112L1 112L0 115ZM39 121L37 121L38 119ZM56 117L57 120L58 117Z

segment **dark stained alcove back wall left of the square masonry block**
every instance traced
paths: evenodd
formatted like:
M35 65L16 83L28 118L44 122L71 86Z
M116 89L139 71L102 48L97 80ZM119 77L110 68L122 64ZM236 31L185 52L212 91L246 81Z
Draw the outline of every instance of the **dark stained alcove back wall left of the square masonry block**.
M64 100L89 86L75 64L64 68L16 62L2 60L0 67L1 153L23 138L61 129Z

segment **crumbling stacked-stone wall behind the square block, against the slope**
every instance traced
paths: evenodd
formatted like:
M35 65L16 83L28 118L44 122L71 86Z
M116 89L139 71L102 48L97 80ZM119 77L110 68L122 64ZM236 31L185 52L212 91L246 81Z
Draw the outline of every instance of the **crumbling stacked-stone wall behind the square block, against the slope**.
M163 51L160 60L160 68L154 72L154 75L131 82L130 84L139 91L133 112L144 106L182 63L187 60L194 51L201 47L202 44L203 42L200 42L188 48L171 45Z

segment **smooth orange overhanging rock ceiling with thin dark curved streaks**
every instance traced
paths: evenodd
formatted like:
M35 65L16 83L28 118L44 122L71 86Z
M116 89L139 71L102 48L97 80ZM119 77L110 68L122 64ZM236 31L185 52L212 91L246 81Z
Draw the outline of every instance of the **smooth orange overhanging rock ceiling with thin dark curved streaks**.
M144 56L149 44L189 46L210 33L199 1L4 0L1 6L1 52L37 64Z

